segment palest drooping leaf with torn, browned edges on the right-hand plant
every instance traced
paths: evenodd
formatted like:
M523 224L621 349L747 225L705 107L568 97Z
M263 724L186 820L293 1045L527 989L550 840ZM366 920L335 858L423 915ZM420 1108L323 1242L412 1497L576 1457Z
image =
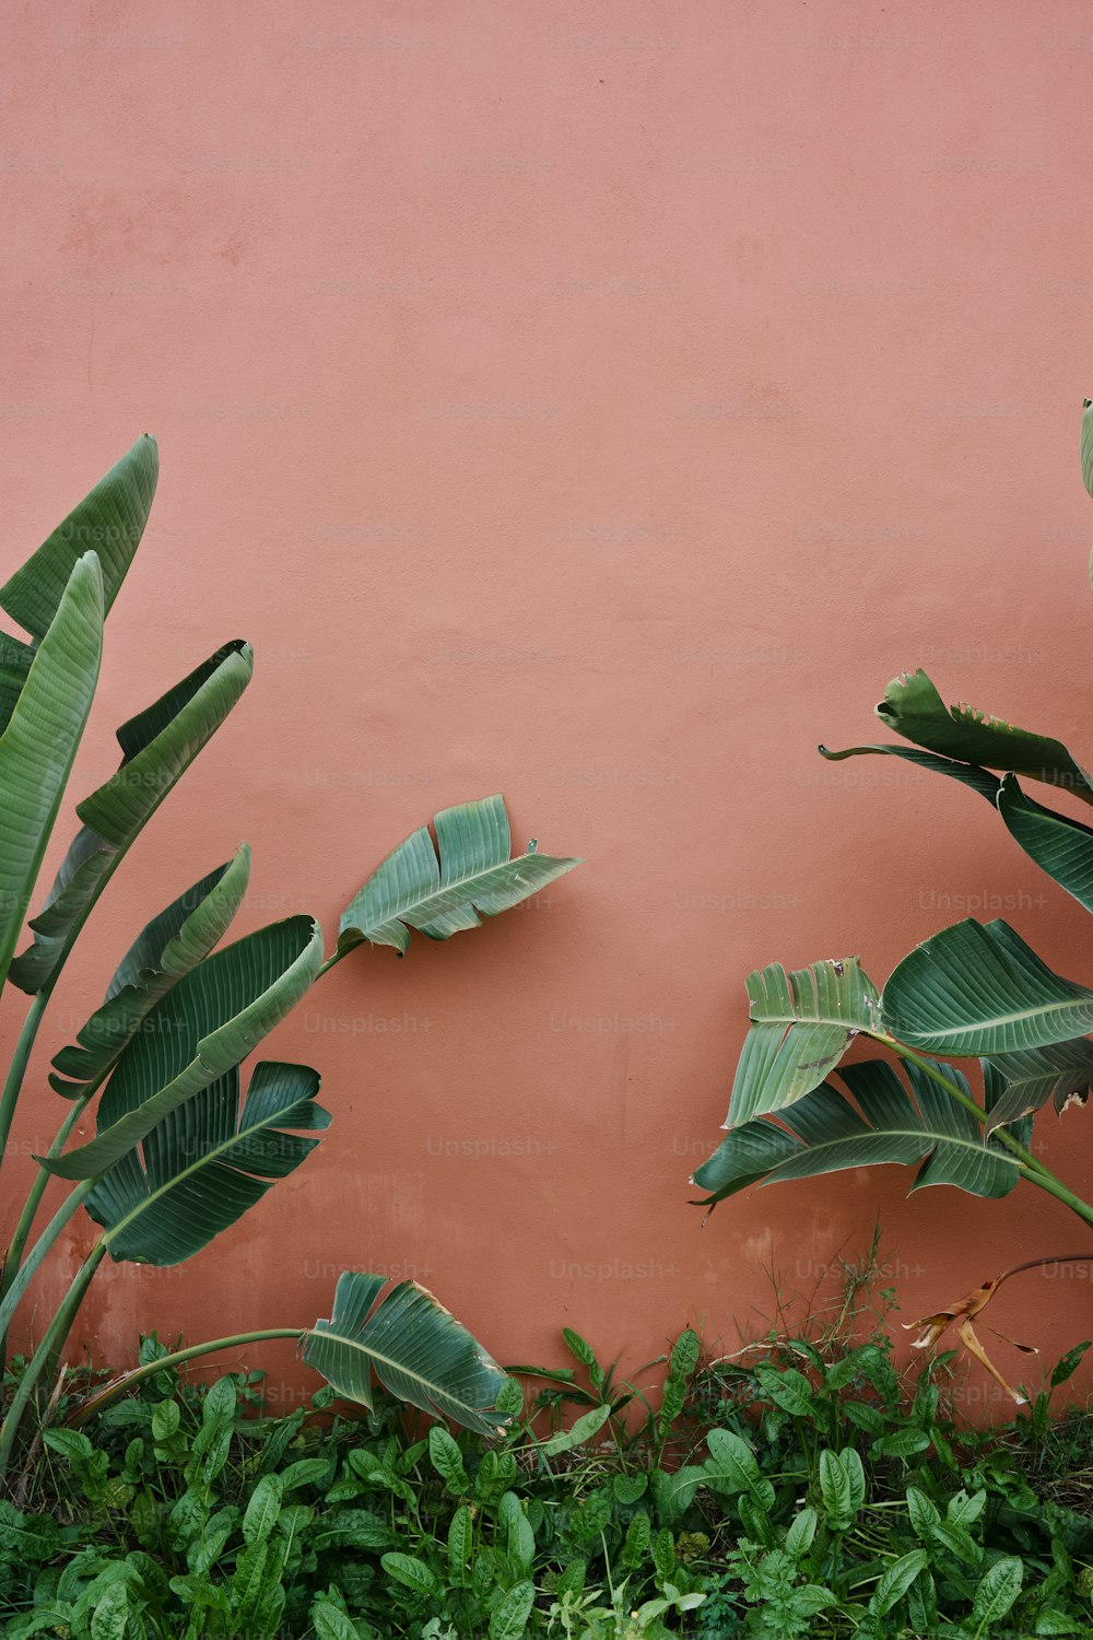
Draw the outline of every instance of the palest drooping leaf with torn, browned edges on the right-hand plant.
M878 1028L878 995L855 956L787 974L780 963L747 976L752 1027L736 1068L726 1127L795 1104L818 1087L859 1032Z

